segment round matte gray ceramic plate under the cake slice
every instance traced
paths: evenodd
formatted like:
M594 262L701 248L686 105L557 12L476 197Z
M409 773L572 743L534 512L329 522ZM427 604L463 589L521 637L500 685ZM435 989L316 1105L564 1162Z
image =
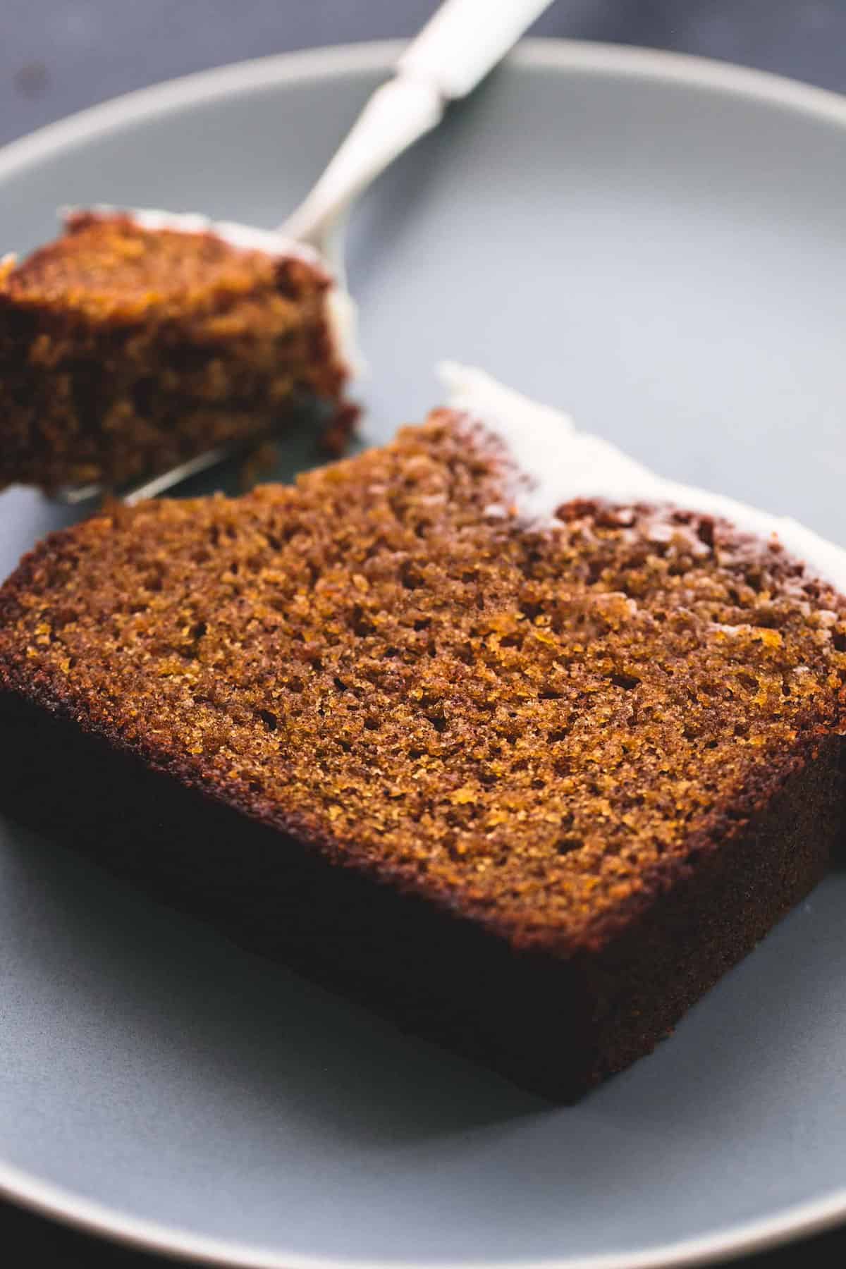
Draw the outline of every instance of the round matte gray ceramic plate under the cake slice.
M270 225L386 74L271 58L0 156L0 241L60 203ZM846 541L846 104L529 43L354 226L370 438L477 362L680 480ZM0 497L0 566L62 515ZM44 773L49 779L49 773ZM0 1183L238 1265L694 1263L846 1213L846 877L575 1109L218 942L0 824Z

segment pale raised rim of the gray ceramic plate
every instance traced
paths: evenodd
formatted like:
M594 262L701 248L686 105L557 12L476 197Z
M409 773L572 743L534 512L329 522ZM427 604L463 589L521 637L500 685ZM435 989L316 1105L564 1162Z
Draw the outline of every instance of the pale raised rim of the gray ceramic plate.
M405 43L398 39L363 41L275 53L197 71L122 94L0 147L0 180L37 166L60 150L82 146L94 137L141 119L222 100L240 90L304 80L331 80L355 71L389 72ZM846 129L846 95L717 58L630 44L543 37L521 41L507 60L511 65L529 70L577 70L729 93L808 114L819 122ZM133 1217L42 1180L3 1159L0 1197L85 1233L197 1264L232 1269L373 1269L367 1261L282 1254L268 1247L208 1237L179 1226ZM531 1269L533 1264L538 1269L674 1269L701 1265L764 1251L790 1239L822 1232L845 1217L846 1187L841 1187L822 1198L791 1204L770 1216L713 1233L679 1239L635 1254L602 1253L512 1264L515 1269L517 1265L519 1269ZM411 1261L379 1261L379 1269L410 1266ZM439 1261L439 1269L483 1269L483 1264Z

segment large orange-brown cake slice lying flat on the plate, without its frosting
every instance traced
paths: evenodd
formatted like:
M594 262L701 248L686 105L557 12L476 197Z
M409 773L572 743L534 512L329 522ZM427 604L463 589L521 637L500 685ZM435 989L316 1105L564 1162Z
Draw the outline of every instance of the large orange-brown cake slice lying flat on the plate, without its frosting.
M690 511L528 530L506 467L440 411L293 489L115 508L6 582L0 681L30 803L101 862L571 1098L824 869L846 602Z

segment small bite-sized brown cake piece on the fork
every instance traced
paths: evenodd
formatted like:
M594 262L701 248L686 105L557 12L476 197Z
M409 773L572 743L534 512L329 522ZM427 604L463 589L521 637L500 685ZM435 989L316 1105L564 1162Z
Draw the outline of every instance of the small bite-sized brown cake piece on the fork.
M0 485L120 485L273 433L303 400L354 411L330 336L329 278L214 233L72 216L0 268Z

